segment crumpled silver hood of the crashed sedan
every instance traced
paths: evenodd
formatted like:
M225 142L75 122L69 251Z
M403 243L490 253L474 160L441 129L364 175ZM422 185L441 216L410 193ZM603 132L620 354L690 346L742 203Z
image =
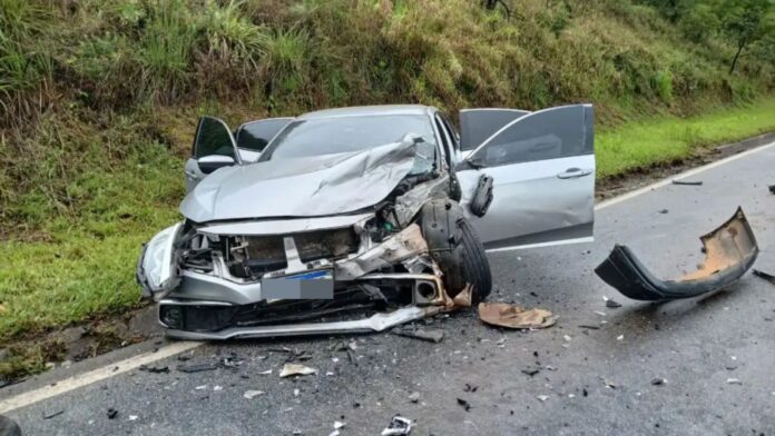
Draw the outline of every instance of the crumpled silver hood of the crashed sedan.
M416 146L408 140L363 151L222 168L183 199L180 212L207 222L356 211L387 197L412 170L415 153Z

